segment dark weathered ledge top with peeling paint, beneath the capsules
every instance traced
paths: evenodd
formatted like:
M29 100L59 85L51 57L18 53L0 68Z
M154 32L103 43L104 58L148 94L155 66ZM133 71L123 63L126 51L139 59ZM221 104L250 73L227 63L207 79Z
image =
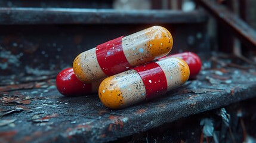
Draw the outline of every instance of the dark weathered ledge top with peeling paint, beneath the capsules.
M175 91L123 110L97 95L66 98L54 79L1 86L0 142L107 142L256 97L255 69L203 70Z

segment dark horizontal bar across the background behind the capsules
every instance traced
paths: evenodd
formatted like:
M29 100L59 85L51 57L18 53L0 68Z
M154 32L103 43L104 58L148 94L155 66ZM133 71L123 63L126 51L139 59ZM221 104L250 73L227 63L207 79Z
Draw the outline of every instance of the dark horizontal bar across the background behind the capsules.
M0 8L0 24L202 23L202 11L87 8Z

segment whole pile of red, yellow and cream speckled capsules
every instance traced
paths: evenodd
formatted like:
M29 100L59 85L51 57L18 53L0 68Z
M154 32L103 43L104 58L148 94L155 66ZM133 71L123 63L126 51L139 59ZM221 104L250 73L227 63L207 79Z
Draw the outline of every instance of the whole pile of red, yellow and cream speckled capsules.
M98 92L112 109L159 97L201 70L201 60L192 52L166 56L172 44L171 33L161 26L102 43L58 73L57 89L67 97Z

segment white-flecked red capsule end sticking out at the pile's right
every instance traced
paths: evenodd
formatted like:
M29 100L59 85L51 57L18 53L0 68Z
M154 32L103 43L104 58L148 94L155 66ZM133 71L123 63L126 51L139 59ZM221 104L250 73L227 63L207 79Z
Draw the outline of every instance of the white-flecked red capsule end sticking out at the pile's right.
M181 58L182 60L186 61L187 65L189 66L189 70L190 70L190 78L196 77L201 70L202 61L199 58L199 56L193 52L182 52L180 54L167 55L165 57L159 58L158 61L164 60L164 59L170 58L170 57L177 57L177 58Z

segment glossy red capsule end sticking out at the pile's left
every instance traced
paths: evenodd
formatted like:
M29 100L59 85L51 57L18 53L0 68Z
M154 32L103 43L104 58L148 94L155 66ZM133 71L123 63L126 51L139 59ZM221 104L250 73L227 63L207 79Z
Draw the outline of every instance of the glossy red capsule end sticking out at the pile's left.
M58 91L66 97L77 97L97 93L100 82L101 81L82 83L76 78L71 67L60 71L56 77L56 87Z

